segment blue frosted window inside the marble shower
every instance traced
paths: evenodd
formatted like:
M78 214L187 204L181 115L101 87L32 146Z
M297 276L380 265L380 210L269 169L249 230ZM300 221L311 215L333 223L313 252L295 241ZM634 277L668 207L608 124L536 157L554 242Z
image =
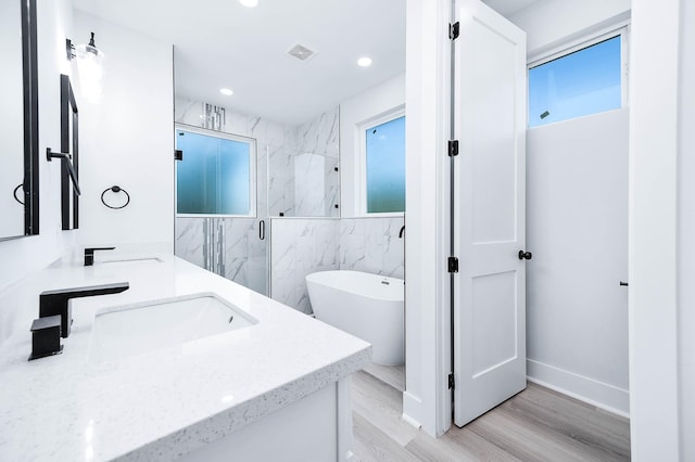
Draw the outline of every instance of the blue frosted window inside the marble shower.
M178 215L255 215L255 140L177 127Z

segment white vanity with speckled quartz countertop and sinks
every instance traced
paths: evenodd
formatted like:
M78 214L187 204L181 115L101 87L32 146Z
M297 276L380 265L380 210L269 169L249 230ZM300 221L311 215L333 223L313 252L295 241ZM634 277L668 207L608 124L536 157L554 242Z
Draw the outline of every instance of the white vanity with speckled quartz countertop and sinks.
M148 257L56 264L0 294L21 307L0 346L0 460L349 460L350 376L370 346ZM27 361L41 292L125 281L73 299L63 352Z

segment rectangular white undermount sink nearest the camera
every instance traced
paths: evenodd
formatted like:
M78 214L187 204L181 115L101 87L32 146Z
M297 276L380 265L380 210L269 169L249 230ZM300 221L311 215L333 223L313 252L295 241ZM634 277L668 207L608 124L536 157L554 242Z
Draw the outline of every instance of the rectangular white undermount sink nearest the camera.
M116 360L257 322L213 293L111 307L94 318L90 356L97 362Z

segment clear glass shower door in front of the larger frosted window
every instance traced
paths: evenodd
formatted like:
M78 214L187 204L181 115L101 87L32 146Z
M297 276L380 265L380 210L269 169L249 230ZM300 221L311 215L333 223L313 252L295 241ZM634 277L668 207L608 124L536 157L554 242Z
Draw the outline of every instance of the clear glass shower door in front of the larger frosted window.
M267 149L177 124L177 256L269 295Z

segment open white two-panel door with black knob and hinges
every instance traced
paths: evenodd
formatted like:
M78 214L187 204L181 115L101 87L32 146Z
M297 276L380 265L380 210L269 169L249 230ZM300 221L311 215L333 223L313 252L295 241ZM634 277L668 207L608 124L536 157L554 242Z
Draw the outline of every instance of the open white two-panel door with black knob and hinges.
M454 422L526 388L526 34L457 1Z

